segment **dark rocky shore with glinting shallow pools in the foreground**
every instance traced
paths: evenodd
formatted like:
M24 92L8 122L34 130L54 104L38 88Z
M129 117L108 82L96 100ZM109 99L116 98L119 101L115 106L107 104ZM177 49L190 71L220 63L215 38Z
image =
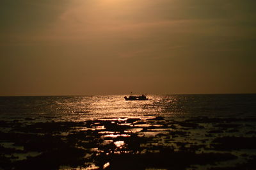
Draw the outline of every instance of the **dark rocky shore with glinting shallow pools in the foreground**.
M0 121L2 169L256 169L255 118Z

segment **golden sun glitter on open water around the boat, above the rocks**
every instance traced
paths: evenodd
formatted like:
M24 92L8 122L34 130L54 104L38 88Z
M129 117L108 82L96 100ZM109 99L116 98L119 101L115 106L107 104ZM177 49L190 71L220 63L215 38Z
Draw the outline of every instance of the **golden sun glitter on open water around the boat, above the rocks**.
M166 114L170 116L175 111L177 97L148 95L149 100L126 101L124 95L76 97L59 104L59 108L67 108L65 114L59 116L77 116L77 121L93 118L143 118ZM166 103L168 105L166 105ZM169 107L172 106L172 110ZM70 114L67 114L70 112ZM66 117L67 118L67 117Z

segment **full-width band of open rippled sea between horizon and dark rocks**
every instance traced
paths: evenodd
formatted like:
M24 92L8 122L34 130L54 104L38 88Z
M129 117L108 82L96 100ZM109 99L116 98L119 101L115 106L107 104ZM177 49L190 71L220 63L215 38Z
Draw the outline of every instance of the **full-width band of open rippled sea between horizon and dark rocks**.
M102 117L150 114L180 116L255 116L256 95L148 95L147 101L125 101L124 95L75 97L0 97L1 118L20 116L84 121Z

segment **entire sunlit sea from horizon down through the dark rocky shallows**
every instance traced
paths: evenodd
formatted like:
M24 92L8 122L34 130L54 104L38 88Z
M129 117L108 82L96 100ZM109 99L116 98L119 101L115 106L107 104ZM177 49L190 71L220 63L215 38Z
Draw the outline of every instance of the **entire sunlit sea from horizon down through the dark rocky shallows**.
M256 94L0 97L0 169L256 169Z

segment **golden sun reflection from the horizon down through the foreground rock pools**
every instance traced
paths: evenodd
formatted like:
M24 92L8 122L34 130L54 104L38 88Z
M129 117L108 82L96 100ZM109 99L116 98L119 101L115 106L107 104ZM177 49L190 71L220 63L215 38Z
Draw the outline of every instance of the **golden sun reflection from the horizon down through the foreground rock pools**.
M148 95L147 97L149 98L149 100L141 101L126 101L124 99L124 95L77 97L77 100L75 102L67 102L63 105L66 105L69 108L73 108L73 114L79 114L79 116L76 116L76 121L96 121L96 123L94 123L90 128L83 127L77 130L81 130L84 132L86 132L86 130L99 130L100 132L98 133L101 135L100 139L102 139L101 145L104 147L113 147L113 149L109 150L106 155L121 154L131 152L125 149L127 148L127 143L125 140L129 139L132 134L138 134L138 136L141 137L153 137L157 134L166 133L164 132L166 131L166 128L161 129L163 125L158 124L157 122L154 123L154 120L149 123L148 119L154 119L156 118L156 116L163 114L163 112L168 112L168 114L172 114L172 112L164 110L167 109L166 102L168 104L175 105L175 102L177 102L177 98L168 97L168 99L163 101L163 97L161 96ZM134 125L134 122L130 121L132 119L136 120L135 122L137 122L138 124ZM99 121L99 123L97 121ZM111 123L110 131L109 123L102 123L106 123L106 121L110 121ZM129 128L127 130L120 131L120 129L118 130L118 128L111 128L111 126L114 125ZM150 130L148 130L148 132L142 132L144 128L150 127L156 127L156 129L153 130L153 132L150 132ZM168 129L170 130L172 128ZM97 154L106 152L104 150L101 150L100 148L92 148L91 150L96 151ZM106 162L103 166L103 169L109 166L111 166L111 164L109 164L109 162ZM85 169L98 168L100 167L91 163L90 166L86 167Z

